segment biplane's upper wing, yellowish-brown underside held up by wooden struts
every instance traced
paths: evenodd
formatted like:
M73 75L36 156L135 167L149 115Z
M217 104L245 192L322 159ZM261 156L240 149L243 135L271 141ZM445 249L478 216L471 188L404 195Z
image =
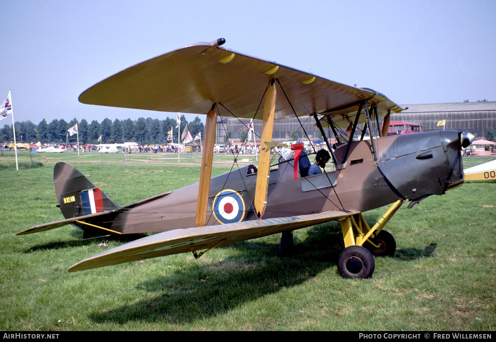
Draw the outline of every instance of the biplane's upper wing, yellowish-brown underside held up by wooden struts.
M206 114L213 102L220 102L232 113L223 112L223 116L261 119L261 111L256 116L255 112L273 77L281 83L297 115L349 107L377 94L210 43L197 43L127 68L84 91L79 101L192 114ZM388 104L393 105L401 110ZM275 119L289 115L293 109L280 94Z

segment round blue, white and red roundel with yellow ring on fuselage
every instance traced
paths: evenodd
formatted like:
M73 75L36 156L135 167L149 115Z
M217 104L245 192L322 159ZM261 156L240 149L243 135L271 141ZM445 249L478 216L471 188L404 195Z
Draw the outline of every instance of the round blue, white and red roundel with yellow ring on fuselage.
M226 189L218 193L213 208L214 216L220 223L241 222L245 218L245 202L234 190Z

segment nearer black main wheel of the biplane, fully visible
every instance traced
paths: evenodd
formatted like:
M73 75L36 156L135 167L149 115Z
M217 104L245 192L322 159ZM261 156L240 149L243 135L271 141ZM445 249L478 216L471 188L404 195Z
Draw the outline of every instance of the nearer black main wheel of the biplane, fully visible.
M339 253L338 271L345 278L369 278L374 268L371 252L362 246L346 247Z

